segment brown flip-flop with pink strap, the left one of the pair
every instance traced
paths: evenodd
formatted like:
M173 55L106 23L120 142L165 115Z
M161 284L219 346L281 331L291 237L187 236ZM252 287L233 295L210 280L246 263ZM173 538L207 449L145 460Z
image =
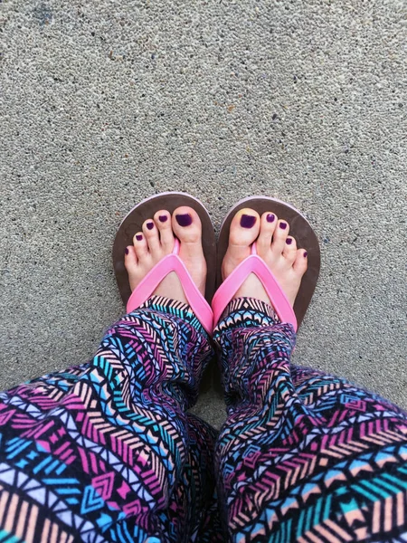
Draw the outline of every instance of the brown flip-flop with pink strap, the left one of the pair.
M146 277L139 283L137 288L131 292L128 283L128 272L124 265L125 250L133 243L135 233L141 231L142 224L153 217L160 209L166 209L174 213L180 205L189 205L199 215L203 230L203 249L208 273L206 277L205 298L196 288L191 275L187 271L184 262L179 258L180 243L175 239L174 250L168 254L156 266L147 273ZM128 313L137 309L156 290L156 287L170 273L175 271L183 285L185 297L188 300L197 319L204 326L204 329L212 334L213 332L213 311L208 301L212 299L215 283L216 263L216 240L211 217L194 196L184 193L161 193L151 196L136 205L124 218L118 227L115 242L113 243L113 267L118 281L118 290L122 300L127 305Z

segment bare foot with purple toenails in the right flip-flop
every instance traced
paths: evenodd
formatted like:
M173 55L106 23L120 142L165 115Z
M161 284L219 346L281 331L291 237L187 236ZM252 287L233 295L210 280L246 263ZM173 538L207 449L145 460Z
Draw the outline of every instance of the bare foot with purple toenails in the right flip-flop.
M297 249L296 240L289 235L287 221L271 212L261 215L253 209L241 209L233 217L228 250L222 262L223 280L251 254L251 244L257 241L257 253L269 266L291 307L298 294L302 276L307 271L307 251ZM251 273L234 298L249 297L270 302L260 280Z

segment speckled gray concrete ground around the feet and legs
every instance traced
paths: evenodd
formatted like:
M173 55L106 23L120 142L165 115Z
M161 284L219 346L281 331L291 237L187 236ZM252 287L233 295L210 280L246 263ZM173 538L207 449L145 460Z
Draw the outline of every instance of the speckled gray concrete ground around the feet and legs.
M139 199L187 191L218 227L263 194L322 248L294 361L407 407L403 5L3 2L0 386L91 357Z

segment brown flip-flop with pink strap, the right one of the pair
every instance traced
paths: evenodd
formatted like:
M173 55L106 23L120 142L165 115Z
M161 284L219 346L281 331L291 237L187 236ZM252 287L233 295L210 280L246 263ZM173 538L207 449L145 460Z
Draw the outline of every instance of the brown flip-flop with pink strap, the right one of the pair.
M232 219L244 207L250 207L260 215L270 211L277 214L279 219L287 221L289 223L289 234L296 239L298 248L303 247L308 252L308 269L302 278L294 308L291 308L289 300L281 291L278 281L268 266L257 255L256 243L251 246L251 255L241 262L232 274L222 282L222 260L228 248ZM281 322L289 322L297 331L315 291L319 269L320 252L317 235L303 214L292 205L285 204L275 198L267 196L244 198L234 205L226 215L219 234L216 281L219 287L212 301L214 325L221 318L223 310L232 300L234 293L241 287L243 281L247 279L250 273L255 273L267 292Z

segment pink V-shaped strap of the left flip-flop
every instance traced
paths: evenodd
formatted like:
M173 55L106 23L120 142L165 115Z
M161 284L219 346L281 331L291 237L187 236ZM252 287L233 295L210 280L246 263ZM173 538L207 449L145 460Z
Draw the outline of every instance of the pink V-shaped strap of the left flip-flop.
M186 300L188 300L194 314L201 322L204 329L212 334L213 332L213 311L204 296L196 288L196 285L186 269L184 262L178 256L179 242L175 240L175 247L171 254L167 254L160 262L149 271L146 277L137 285L136 289L131 293L128 299L127 311L136 310L156 291L157 286L161 281L175 271L179 281L182 284L185 292Z

